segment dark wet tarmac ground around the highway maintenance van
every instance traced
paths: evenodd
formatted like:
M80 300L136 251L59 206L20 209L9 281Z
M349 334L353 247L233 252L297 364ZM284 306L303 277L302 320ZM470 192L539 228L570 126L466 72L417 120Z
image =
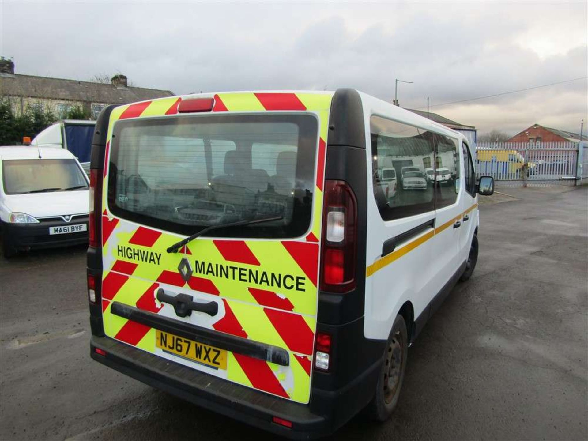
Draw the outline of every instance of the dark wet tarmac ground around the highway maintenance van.
M399 406L332 439L588 439L588 186L480 199L480 255L412 348ZM89 357L85 247L0 258L0 439L274 439Z

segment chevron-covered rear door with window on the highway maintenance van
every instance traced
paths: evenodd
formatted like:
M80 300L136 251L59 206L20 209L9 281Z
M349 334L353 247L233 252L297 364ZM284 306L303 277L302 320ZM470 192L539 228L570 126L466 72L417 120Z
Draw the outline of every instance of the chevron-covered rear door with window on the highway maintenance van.
M307 97L319 103L315 112L230 112L239 96L253 94L215 96L218 113L117 121L125 109L113 111L104 329L173 362L308 403L331 96Z

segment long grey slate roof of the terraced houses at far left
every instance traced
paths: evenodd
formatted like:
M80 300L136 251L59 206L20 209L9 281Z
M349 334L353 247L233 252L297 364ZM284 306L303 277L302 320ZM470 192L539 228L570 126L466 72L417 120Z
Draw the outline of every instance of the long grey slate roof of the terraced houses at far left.
M39 99L125 104L173 96L171 91L142 87L116 87L112 84L49 78L34 75L0 75L0 96L27 96Z

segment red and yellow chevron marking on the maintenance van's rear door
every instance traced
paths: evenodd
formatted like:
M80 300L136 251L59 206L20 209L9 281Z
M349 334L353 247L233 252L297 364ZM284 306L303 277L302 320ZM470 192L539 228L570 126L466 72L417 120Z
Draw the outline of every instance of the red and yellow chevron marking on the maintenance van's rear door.
M209 97L212 95L202 95ZM211 323L211 328L241 338L284 348L290 353L287 367L274 365L238 353L228 353L226 372L189 361L179 361L192 368L205 370L220 377L296 402L308 403L310 375L316 329L318 296L318 264L320 242L320 213L324 185L326 140L332 93L218 93L213 112L306 111L315 113L320 121L316 151L316 184L313 194L313 220L310 232L297 240L211 240L198 238L183 247L181 253L168 254L165 249L177 242L178 235L139 226L113 216L108 209L102 213L103 266L102 309L106 335L151 353L155 348L155 330L110 313L113 301L135 306L153 313L162 313L163 305L155 293L163 287L172 292L195 292L198 296L222 301L223 314ZM182 98L162 98L115 108L109 122L108 141L116 121L127 118L174 115ZM107 143L108 150L110 143ZM105 188L108 186L108 159L104 169ZM103 192L106 207L107 192ZM119 247L130 248L129 258ZM151 261L146 256L154 252ZM182 257L198 266L186 283L178 272ZM154 260L155 259L155 260ZM198 263L196 263L198 262ZM206 262L206 268L203 262ZM209 265L212 267L209 268ZM305 291L272 288L259 280L247 282L228 279L213 268L234 266L239 271L265 271L304 280ZM244 273L240 272L239 276Z

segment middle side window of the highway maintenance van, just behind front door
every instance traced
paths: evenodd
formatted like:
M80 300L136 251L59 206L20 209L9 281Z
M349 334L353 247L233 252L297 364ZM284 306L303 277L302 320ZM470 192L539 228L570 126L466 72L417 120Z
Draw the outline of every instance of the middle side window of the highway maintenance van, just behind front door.
M435 133L435 208L452 205L457 200L455 182L459 178L459 148L457 139Z

